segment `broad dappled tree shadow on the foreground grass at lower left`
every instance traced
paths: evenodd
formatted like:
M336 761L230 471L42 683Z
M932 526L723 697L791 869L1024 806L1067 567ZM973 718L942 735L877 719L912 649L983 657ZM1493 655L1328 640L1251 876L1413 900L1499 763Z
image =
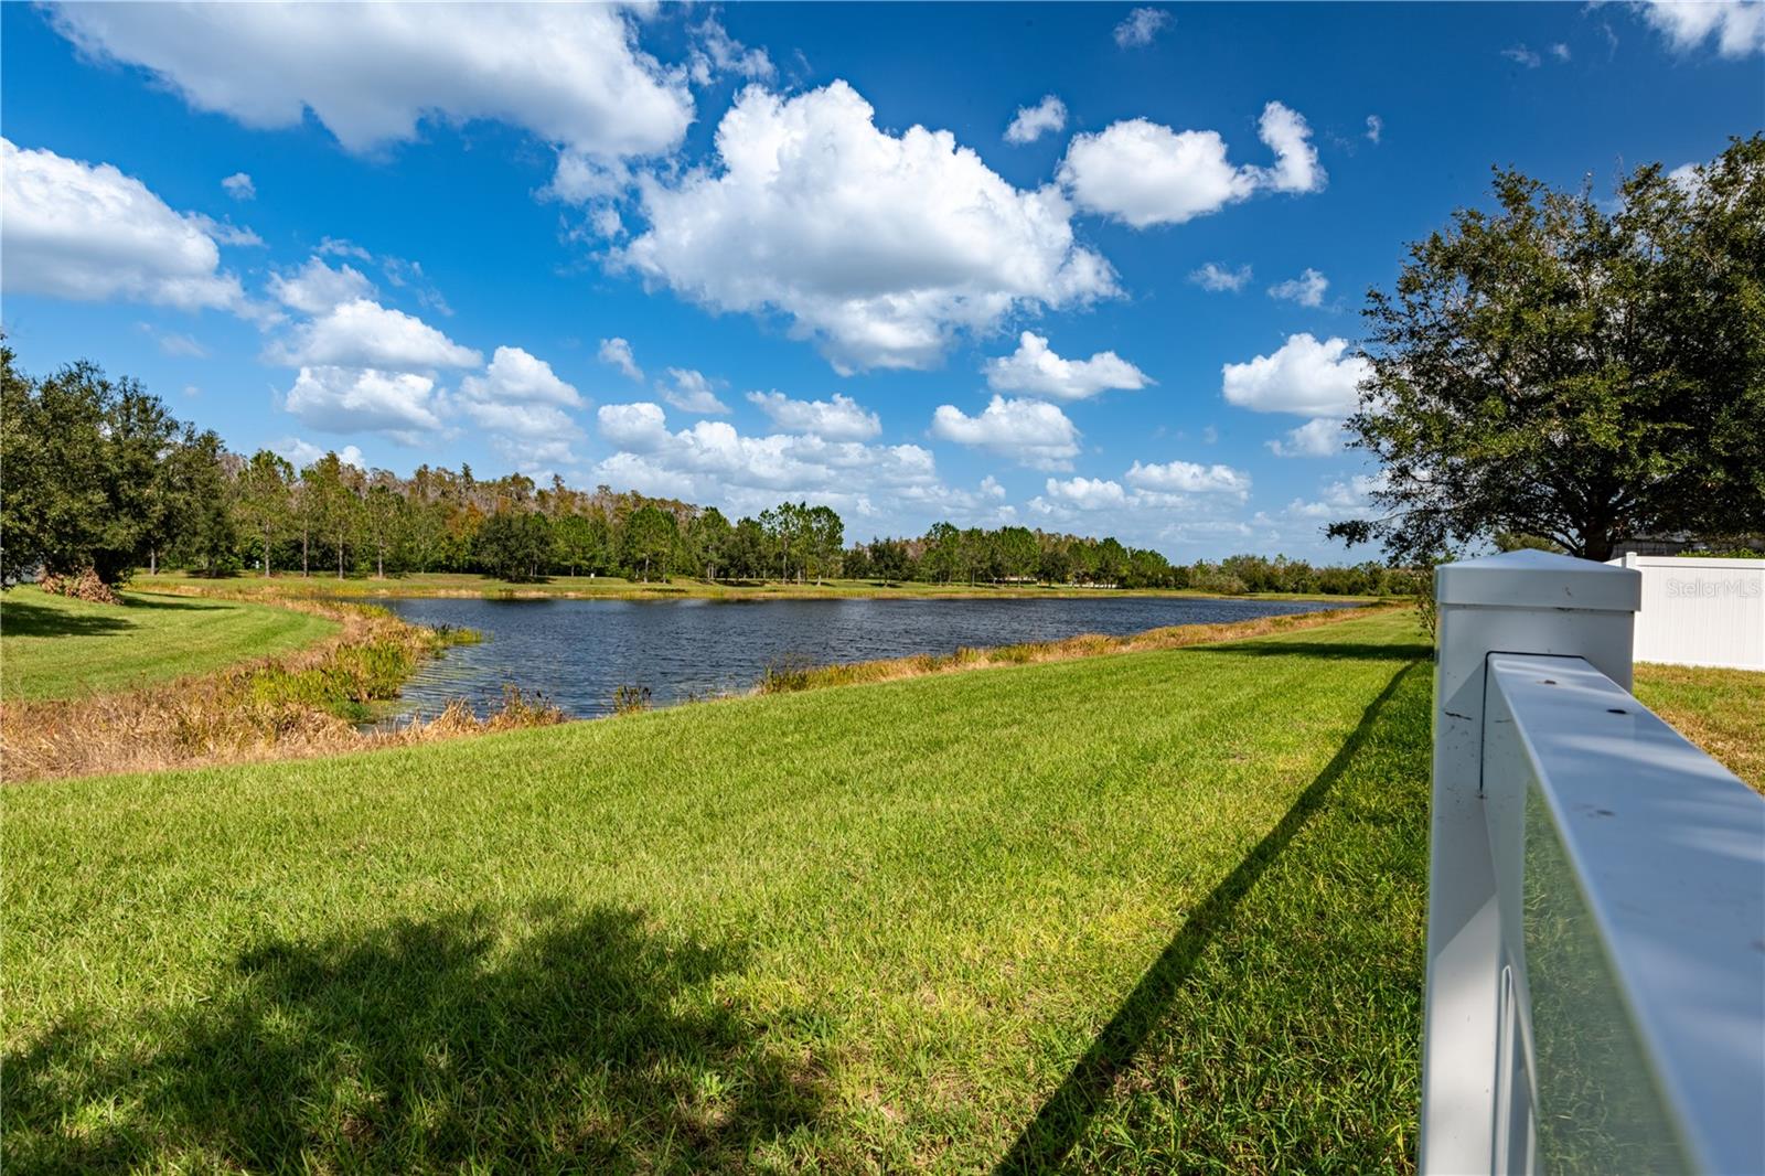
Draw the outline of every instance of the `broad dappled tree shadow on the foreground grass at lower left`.
M56 1026L4 1067L7 1171L688 1171L743 1167L812 1123L708 982L729 946L621 908L392 922L270 941L214 994Z

